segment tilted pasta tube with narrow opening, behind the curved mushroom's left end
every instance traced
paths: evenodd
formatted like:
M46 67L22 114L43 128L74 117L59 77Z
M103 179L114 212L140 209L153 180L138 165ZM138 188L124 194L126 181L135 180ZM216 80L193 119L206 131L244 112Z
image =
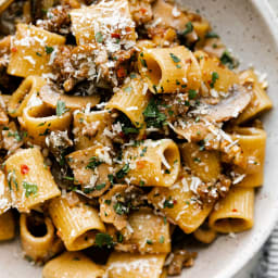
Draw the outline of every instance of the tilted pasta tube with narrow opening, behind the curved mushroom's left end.
M9 115L18 117L26 106L37 106L42 104L42 101L37 94L46 84L47 81L39 76L28 76L24 79L9 101Z

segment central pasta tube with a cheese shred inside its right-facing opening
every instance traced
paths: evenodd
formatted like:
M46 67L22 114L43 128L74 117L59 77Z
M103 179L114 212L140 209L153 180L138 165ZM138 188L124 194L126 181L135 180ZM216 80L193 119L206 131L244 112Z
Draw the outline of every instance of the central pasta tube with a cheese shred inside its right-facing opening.
M128 168L126 180L137 186L170 187L180 168L179 150L170 139L146 140L139 147L129 147L123 151L123 162Z

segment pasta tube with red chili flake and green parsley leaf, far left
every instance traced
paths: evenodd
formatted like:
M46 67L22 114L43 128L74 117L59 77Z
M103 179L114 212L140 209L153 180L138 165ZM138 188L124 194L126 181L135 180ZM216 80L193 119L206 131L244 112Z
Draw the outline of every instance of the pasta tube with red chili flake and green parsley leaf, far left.
M14 206L22 213L61 193L37 148L11 155L5 161L5 174Z

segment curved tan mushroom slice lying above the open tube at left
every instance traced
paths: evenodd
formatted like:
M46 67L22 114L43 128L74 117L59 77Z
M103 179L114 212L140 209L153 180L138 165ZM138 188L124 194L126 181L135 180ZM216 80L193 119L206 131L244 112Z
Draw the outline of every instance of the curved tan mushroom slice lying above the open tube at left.
M90 104L91 108L96 106L100 102L99 96L68 96L61 92L50 85L46 85L40 90L40 98L45 103L51 108L55 108L58 101L63 101L65 106L71 110L80 110Z

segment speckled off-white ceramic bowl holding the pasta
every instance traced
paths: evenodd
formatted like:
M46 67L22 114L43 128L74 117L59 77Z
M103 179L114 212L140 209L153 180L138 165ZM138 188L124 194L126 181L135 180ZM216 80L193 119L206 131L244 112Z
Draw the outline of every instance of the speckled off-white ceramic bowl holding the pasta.
M199 9L212 23L232 52L242 61L267 74L269 96L278 104L278 24L266 0L178 0ZM195 266L186 278L230 278L255 254L269 236L278 216L278 110L264 115L268 134L265 185L257 192L255 226L236 238L220 237L200 250ZM37 278L41 269L22 258L18 242L0 244L1 278Z

